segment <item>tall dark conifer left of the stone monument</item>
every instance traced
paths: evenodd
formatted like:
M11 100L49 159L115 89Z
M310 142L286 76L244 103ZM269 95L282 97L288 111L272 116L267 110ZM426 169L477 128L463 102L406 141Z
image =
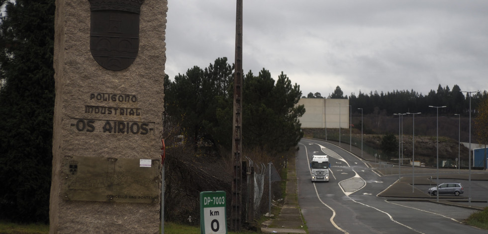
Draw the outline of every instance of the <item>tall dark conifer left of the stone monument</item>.
M54 109L54 0L0 0L0 213L47 222Z

